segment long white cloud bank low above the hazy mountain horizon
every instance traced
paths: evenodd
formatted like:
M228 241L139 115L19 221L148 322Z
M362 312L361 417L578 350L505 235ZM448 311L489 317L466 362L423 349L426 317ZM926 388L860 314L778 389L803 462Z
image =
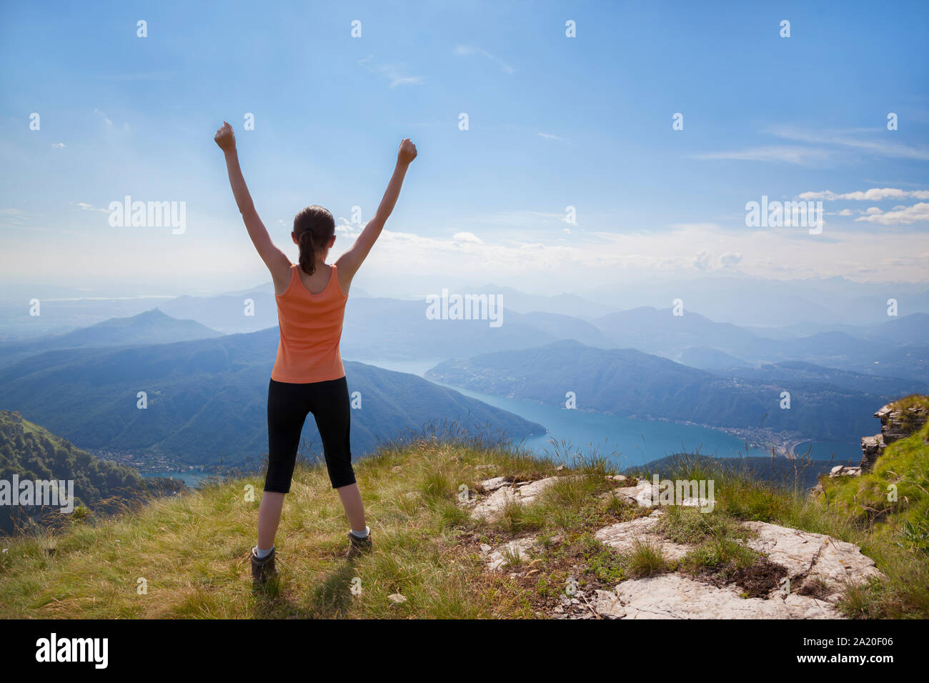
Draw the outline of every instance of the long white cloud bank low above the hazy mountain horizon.
M81 210L76 205L72 208L75 212ZM552 286L563 286L565 291L569 282L583 288L589 287L590 282L639 280L651 274L684 277L702 273L698 265L706 265L709 271L736 269L744 275L777 279L844 276L864 281L926 282L929 273L929 243L925 231L905 225L878 227L865 222L857 224L862 230L831 230L827 226L822 234L810 235L805 229L753 230L741 223L736 227L729 224L721 227L709 222L674 227L649 226L648 223L639 226L611 218L610 231L585 231L570 226L573 234L565 239L562 230L567 226L560 222L560 215L558 218L547 226L556 230L539 230L539 217L534 217L534 226L525 230L494 230L492 225L473 220L454 225L447 232L444 225L434 230L424 229L425 232L420 232L419 228L405 232L384 230L365 262L364 271L372 277L398 278L409 276L410 264L418 264L420 274L488 282L505 272L511 278L524 277L527 282L564 283ZM342 218L337 224L339 237L333 258L351 246L361 228ZM222 264L222 269L209 267L216 268L216 273L228 273L232 269L255 272L255 276L261 277L267 274L258 269L260 262L255 266L254 250L244 231L227 242L217 242L212 236L207 239L204 232L200 248L178 251L171 247L165 251L160 243L154 242L154 236L144 238L151 242L140 246L138 241L142 237L135 233L104 231L99 243L88 243L91 238L85 230L77 230L74 236L60 237L57 221L54 227L48 228L48 234L59 235L52 253L42 248L47 239L41 232L43 226L36 225L35 220L26 225L31 226L28 231L25 226L3 228L22 230L25 235L23 242L11 248L7 255L5 265L9 264L10 274L51 275L66 267L77 274L92 274L111 264L113 249L121 254L137 254L146 259L151 268L158 269L157 272L178 275L195 269L196 254L202 255L204 249L216 249L213 260ZM210 224L216 231L224 226L219 219L215 225ZM457 233L468 231L479 235L481 242L456 239ZM289 233L287 226L280 226L275 239L279 240L281 249L295 258L296 247ZM709 258L697 258L701 251ZM80 262L74 262L75 253L82 255ZM110 267L113 268L112 264ZM118 266L117 272L137 275L137 270L132 271L129 266ZM641 282L646 286L648 280Z

